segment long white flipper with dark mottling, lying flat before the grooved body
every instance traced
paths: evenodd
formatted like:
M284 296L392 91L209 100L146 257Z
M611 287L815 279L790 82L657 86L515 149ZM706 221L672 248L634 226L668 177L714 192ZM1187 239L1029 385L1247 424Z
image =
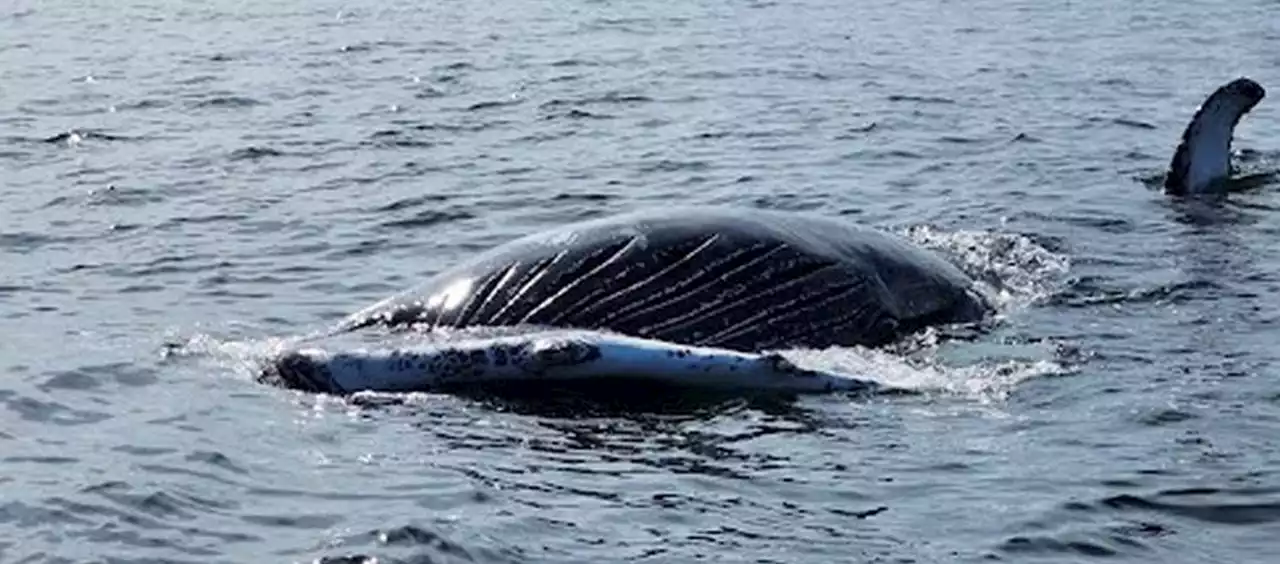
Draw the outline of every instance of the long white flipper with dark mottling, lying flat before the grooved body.
M863 393L877 389L867 380L796 367L776 353L685 347L591 331L342 353L298 349L269 359L257 380L333 395L608 381L649 381L721 391Z

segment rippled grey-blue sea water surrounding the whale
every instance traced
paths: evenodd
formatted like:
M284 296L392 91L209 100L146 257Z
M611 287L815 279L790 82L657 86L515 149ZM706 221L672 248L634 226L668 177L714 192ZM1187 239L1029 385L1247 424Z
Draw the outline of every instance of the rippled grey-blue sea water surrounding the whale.
M0 560L1266 561L1280 184L1149 184L1217 84L1280 93L1277 9L5 3ZM1006 318L795 352L908 396L575 418L250 381L477 249L675 201L909 233Z

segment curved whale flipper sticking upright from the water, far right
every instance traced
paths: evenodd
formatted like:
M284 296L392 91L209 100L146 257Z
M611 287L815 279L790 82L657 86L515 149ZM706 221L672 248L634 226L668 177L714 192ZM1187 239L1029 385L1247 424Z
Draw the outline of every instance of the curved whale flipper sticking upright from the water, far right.
M1220 86L1196 110L1169 164L1165 192L1174 196L1213 192L1231 174L1231 136L1240 118L1267 92L1248 78Z

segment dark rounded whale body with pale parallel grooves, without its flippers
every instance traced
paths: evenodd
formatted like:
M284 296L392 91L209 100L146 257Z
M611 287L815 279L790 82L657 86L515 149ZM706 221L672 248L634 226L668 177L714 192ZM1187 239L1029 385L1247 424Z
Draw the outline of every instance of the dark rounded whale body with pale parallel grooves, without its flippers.
M709 208L516 239L342 329L534 325L760 350L879 345L986 311L954 265L887 233L808 214Z

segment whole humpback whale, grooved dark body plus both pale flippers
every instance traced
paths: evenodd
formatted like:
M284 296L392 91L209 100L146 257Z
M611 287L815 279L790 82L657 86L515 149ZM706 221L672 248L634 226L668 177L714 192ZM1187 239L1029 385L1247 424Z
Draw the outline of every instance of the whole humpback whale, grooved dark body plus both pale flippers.
M1216 189L1230 174L1234 127L1263 96L1248 78L1215 91L1183 133L1166 191ZM881 347L992 311L954 263L874 228L809 212L660 208L511 240L329 331L550 333L339 354L293 349L268 362L259 380L335 394L645 376L713 388L874 390L850 375L795 367L776 350Z

